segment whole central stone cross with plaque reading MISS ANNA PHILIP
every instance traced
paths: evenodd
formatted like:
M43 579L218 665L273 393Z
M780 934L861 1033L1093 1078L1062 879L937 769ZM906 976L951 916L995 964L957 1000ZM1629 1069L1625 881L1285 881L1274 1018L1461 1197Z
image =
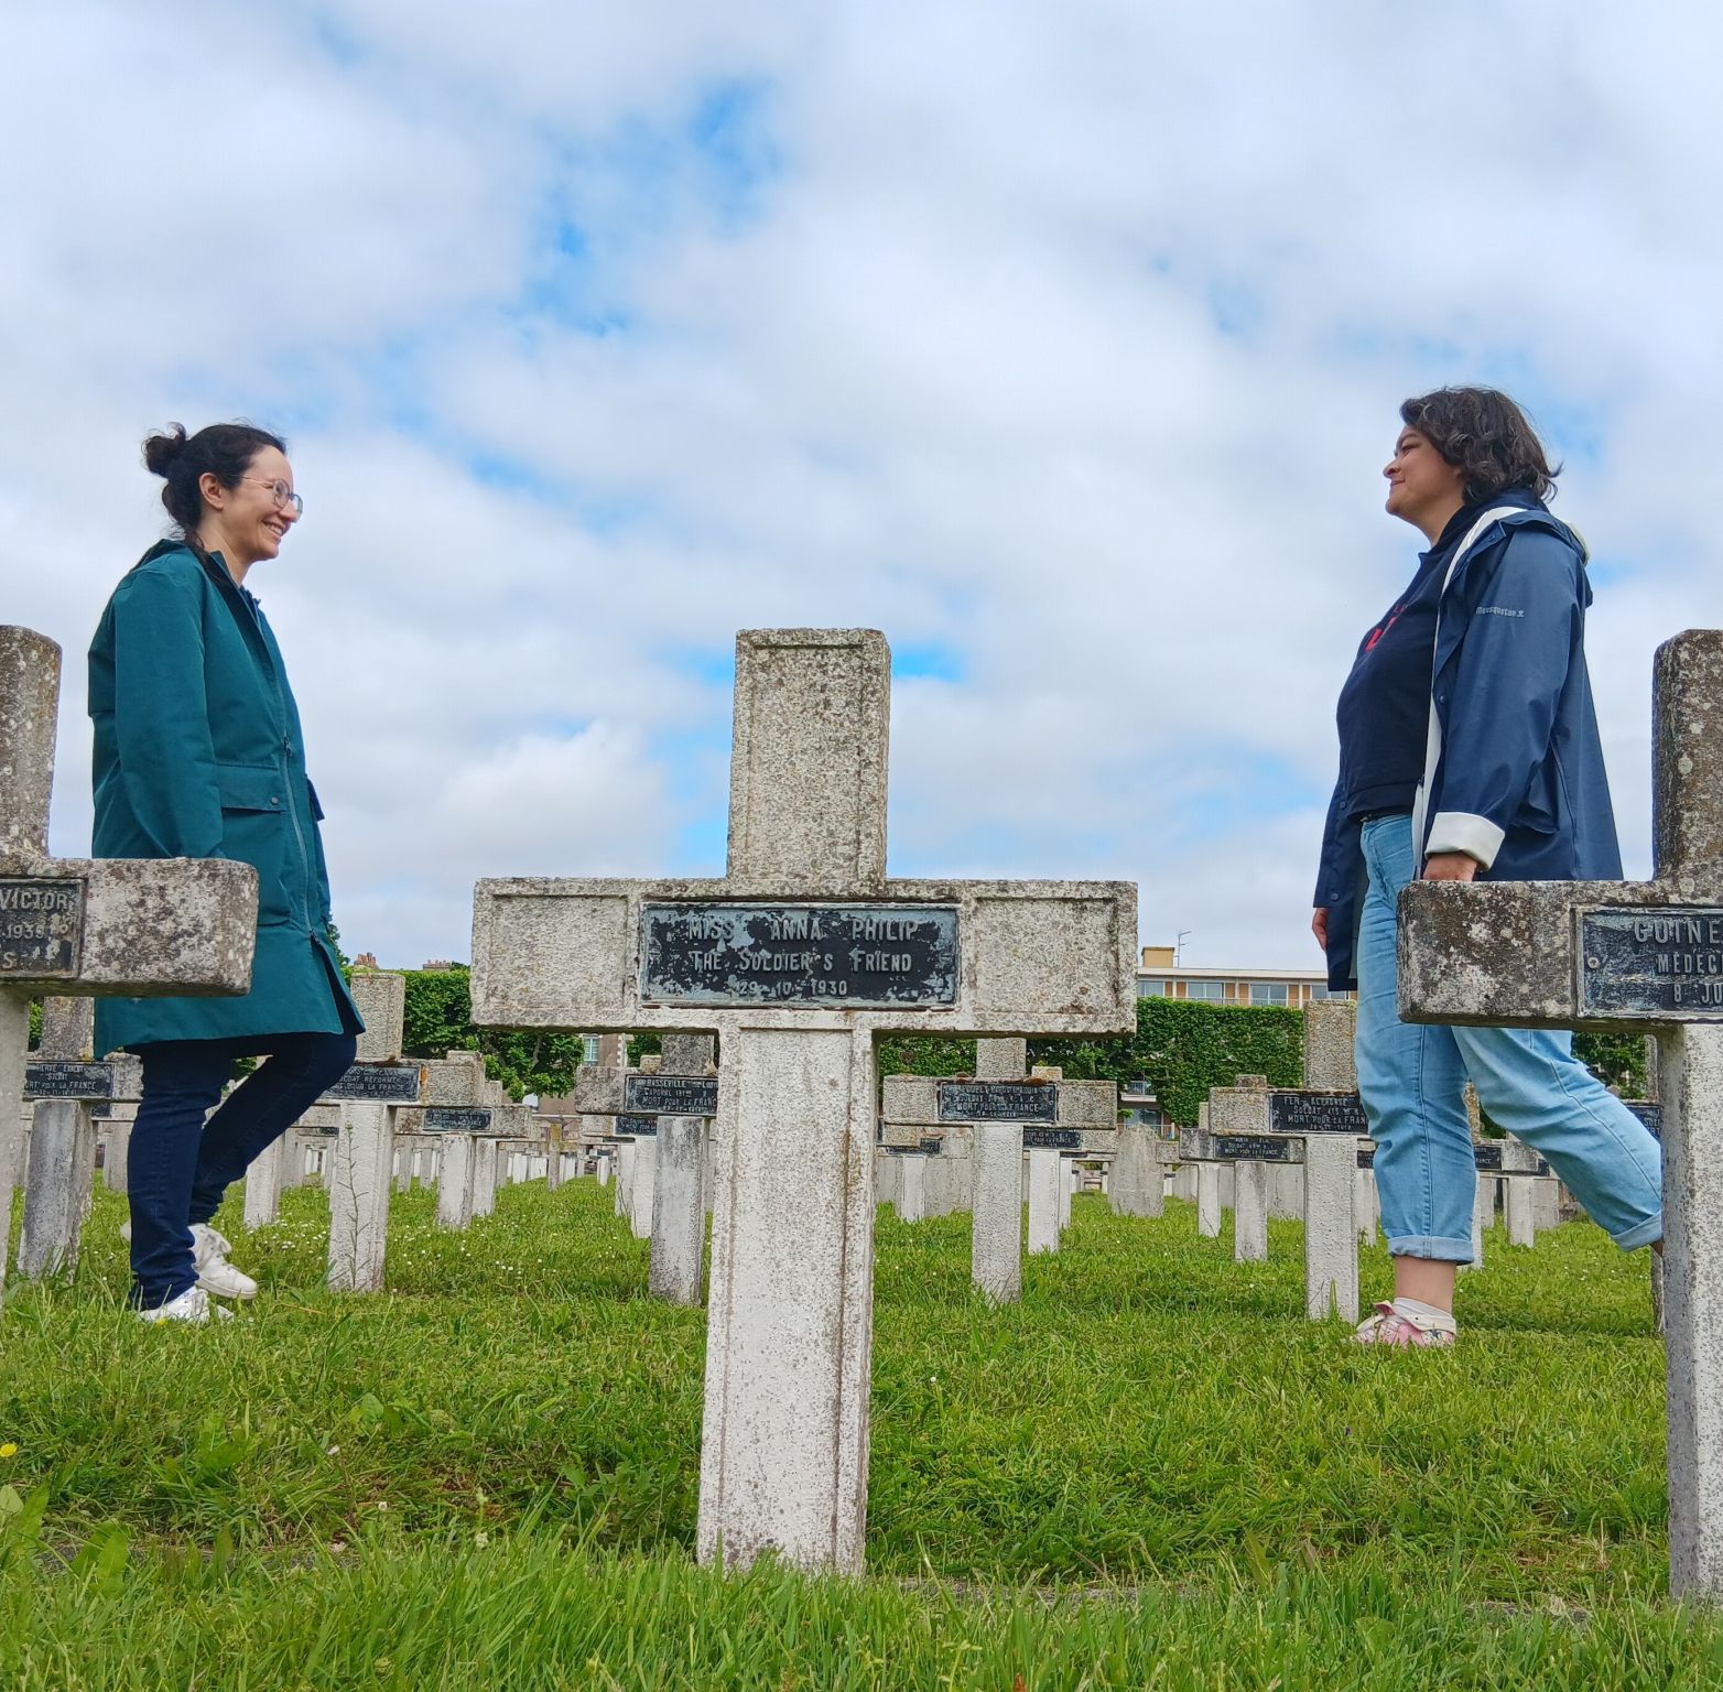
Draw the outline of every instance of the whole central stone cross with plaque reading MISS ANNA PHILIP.
M698 1549L862 1566L875 1037L1125 1034L1125 882L887 880L891 656L736 643L722 880L479 882L474 1020L718 1036Z

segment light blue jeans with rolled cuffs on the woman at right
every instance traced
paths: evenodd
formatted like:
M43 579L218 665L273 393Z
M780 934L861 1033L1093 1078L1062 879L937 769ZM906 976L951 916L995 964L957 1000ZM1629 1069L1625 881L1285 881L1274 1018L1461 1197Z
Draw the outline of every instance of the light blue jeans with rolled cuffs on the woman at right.
M1623 1249L1663 1239L1663 1156L1645 1125L1547 1029L1401 1022L1394 920L1413 879L1409 817L1365 824L1370 893L1358 936L1358 1092L1377 1139L1389 1251L1471 1261L1477 1165L1465 1085L1490 1118L1533 1146Z

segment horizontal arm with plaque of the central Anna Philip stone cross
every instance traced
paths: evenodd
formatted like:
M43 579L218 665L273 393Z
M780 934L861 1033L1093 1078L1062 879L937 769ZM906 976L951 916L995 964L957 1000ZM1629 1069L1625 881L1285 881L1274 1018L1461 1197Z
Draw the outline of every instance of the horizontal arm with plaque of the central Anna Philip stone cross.
M1132 882L884 880L793 901L724 880L481 880L472 1018L579 1030L1135 1029Z

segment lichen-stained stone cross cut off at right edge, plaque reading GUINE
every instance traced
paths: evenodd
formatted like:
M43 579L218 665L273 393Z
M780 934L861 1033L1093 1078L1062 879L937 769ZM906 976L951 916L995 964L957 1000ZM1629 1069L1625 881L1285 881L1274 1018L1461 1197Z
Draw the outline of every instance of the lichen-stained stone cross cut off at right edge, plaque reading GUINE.
M1647 882L1413 882L1408 1022L1654 1030L1670 1590L1723 1597L1723 631L1658 650Z

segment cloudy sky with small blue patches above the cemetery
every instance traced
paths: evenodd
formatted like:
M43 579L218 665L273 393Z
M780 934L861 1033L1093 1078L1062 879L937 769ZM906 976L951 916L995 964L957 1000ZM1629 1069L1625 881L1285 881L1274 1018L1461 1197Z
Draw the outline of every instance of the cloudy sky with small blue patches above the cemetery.
M10 0L0 617L83 651L138 443L288 434L252 575L336 918L722 874L734 632L894 651L891 868L1141 884L1308 965L1408 393L1509 388L1594 553L1649 870L1659 639L1723 625L1723 29L1690 5Z

